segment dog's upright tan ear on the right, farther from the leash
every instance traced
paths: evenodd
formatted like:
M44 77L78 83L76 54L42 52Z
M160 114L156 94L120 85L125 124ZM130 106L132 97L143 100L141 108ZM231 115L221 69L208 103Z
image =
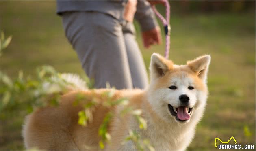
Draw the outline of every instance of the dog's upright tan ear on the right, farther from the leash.
M193 70L197 76L205 83L207 80L207 73L210 64L210 55L204 55L196 58L195 60L188 61L187 66Z

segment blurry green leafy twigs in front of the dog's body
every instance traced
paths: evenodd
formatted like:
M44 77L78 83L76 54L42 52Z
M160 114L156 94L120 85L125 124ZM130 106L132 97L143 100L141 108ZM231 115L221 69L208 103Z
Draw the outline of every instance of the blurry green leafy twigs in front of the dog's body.
M2 50L9 45L11 36L4 39L4 34L2 32L0 41L0 50L2 52ZM7 113L6 111L26 111L26 113L31 113L35 108L58 106L61 94L68 91L68 86L73 85L72 83L65 81L61 75L61 73L56 72L56 70L51 66L42 66L37 68L35 79L30 76L24 77L23 72L20 71L18 77L12 80L7 74L0 71L1 119L9 118L7 117L7 114L5 114ZM93 82L90 81L88 77L85 77L84 80L86 81L87 88L92 89ZM147 128L147 123L140 116L142 111L139 109L134 110L131 107L128 107L128 100L125 98L112 100L115 89L110 88L108 84L107 88L110 89L110 91L102 94L104 98L107 98L106 101L100 103L100 101L97 101L98 98L93 96L91 102L85 104L84 109L78 113L78 124L87 126L88 123L93 120L92 113L94 108L99 105L103 105L108 108L116 105L122 105L124 106L124 109L120 111L121 117L124 117L126 114L131 114L135 117L135 119L137 119L139 128L145 130ZM91 91L94 90L92 89ZM84 96L78 94L77 100L73 105L76 106L80 101L85 99L86 98ZM22 116L25 116L25 114ZM107 130L112 117L113 112L109 111L98 130L98 135L101 137L99 142L100 149L104 149L105 144L111 141L111 135L107 132ZM128 136L124 139L123 143L132 141L137 150L154 151L154 147L150 145L149 141L142 139L136 130L127 131Z

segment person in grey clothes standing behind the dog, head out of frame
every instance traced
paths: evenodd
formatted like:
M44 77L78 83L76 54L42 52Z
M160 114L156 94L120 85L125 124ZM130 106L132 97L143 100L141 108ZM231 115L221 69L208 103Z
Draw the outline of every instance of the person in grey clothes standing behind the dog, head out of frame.
M135 38L133 19L141 26L146 48L161 43L150 3L162 1L57 0L65 35L95 88L108 82L116 89L145 89L148 76Z

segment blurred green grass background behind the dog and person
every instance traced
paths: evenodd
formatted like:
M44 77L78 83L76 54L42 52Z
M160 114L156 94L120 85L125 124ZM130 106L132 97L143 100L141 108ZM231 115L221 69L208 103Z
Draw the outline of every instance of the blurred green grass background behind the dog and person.
M255 1L170 1L170 59L185 64L210 54L210 95L195 138L187 150L216 150L215 138L234 136L240 145L255 145ZM165 14L165 8L157 7ZM1 52L1 71L35 76L48 64L59 72L85 74L65 38L55 1L0 1L1 31L12 35ZM161 22L159 22L161 26ZM148 69L153 52L164 54L165 41L145 49L135 22L137 41ZM163 33L163 31L162 31ZM163 34L162 34L163 35ZM1 150L24 149L21 136L26 111L1 116Z

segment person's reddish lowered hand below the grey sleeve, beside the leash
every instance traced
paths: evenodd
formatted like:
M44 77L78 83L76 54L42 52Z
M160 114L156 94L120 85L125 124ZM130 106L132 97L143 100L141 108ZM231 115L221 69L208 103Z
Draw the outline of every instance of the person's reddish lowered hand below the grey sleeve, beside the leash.
M143 45L149 48L150 45L161 44L161 31L159 26L148 31L142 32Z

